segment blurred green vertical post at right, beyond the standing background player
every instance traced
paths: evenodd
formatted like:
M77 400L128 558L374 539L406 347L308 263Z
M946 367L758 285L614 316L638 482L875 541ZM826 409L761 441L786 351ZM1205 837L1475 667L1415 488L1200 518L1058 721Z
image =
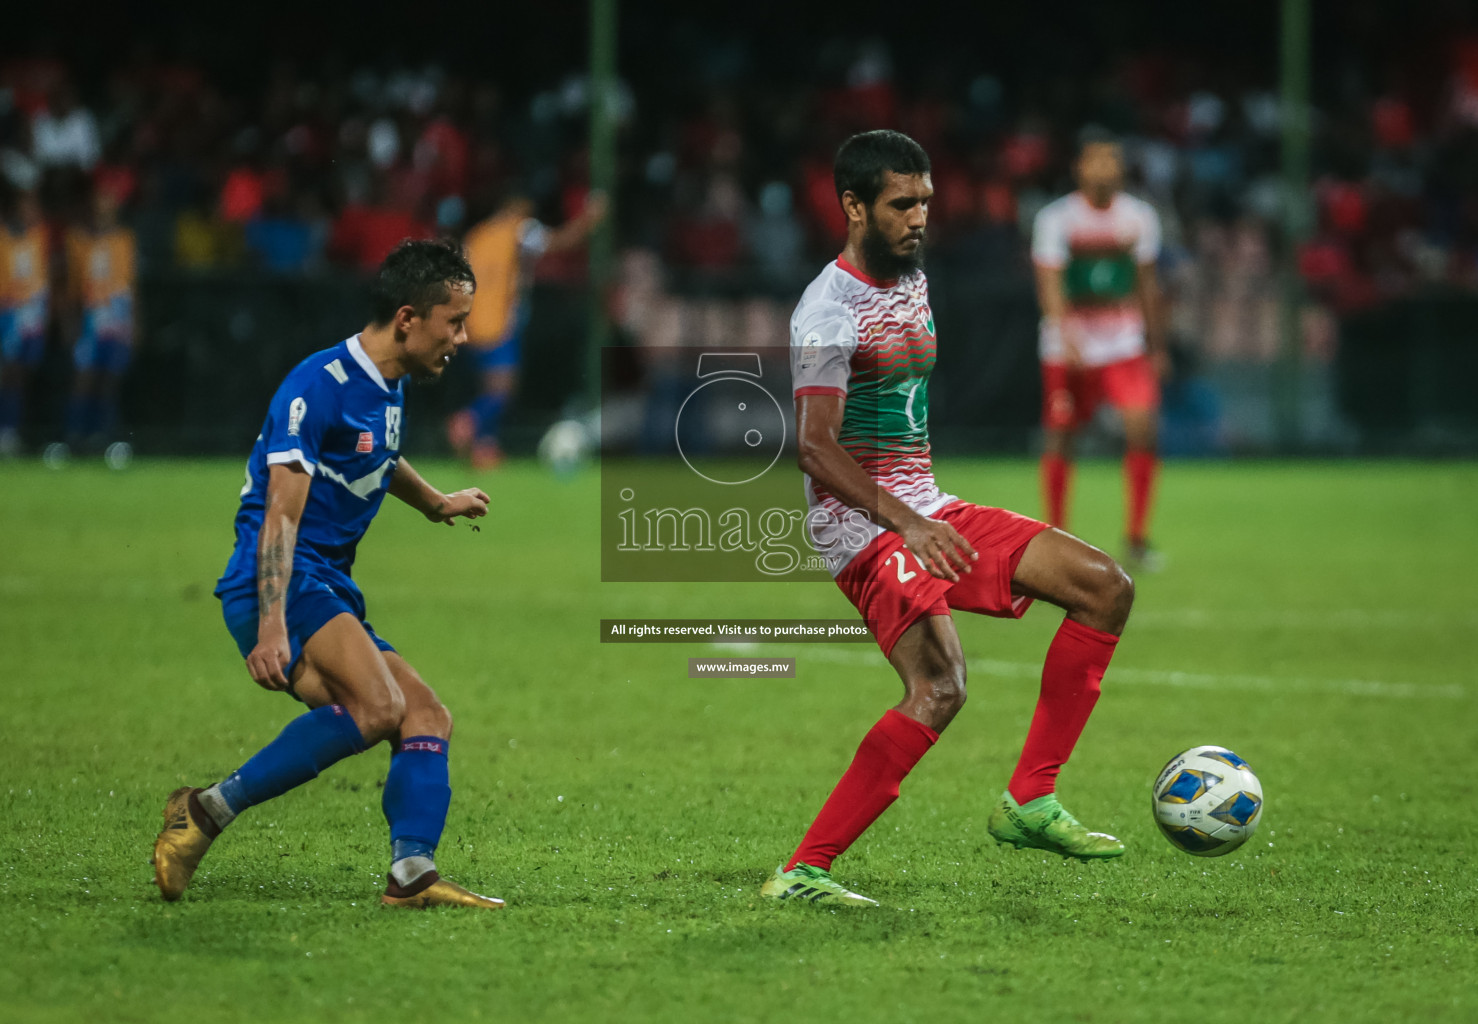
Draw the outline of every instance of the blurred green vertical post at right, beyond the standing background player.
M1280 262L1280 346L1274 375L1274 427L1283 451L1304 439L1301 387L1304 287L1298 250L1312 229L1310 202L1310 0L1283 0L1280 92L1283 126L1283 259Z

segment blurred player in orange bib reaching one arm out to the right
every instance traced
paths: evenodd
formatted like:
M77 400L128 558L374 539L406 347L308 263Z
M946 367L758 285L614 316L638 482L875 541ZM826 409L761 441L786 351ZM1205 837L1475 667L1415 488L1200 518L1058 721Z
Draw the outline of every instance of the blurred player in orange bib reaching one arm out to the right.
M579 216L559 228L534 217L534 202L513 195L486 220L467 231L467 262L477 275L477 298L467 321L467 340L477 361L479 392L446 426L452 449L488 470L503 461L498 434L503 414L519 383L523 330L529 322L534 264L547 253L582 245L606 217L606 197L591 192Z

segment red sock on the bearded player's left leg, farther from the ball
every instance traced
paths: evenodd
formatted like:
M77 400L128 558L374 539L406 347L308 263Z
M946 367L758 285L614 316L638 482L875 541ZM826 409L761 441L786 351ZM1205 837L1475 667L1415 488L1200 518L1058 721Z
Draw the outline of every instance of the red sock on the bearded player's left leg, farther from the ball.
M862 737L851 767L826 798L822 813L806 830L806 838L785 870L801 861L831 870L832 860L899 798L903 776L928 754L936 740L939 733L933 728L890 708Z

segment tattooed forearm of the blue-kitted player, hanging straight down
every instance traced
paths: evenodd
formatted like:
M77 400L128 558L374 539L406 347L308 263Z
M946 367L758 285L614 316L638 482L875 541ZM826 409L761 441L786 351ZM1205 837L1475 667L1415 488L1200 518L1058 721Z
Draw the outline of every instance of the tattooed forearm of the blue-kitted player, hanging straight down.
M247 671L268 690L287 689L293 661L287 638L287 588L293 579L297 528L307 505L313 477L299 462L268 467L268 494L257 536L257 646L247 655Z

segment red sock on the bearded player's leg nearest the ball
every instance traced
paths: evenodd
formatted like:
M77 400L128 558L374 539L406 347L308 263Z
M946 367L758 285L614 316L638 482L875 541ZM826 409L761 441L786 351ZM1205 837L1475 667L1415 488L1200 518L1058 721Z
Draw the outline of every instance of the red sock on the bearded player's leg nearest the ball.
M1057 788L1057 773L1072 757L1119 637L1063 619L1042 665L1042 694L1008 789L1018 804Z

